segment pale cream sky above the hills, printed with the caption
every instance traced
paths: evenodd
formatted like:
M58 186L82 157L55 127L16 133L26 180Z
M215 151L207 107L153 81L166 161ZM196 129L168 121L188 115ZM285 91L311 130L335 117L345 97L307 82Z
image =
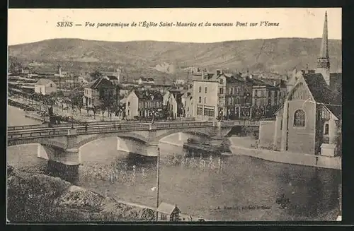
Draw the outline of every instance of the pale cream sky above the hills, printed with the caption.
M341 8L119 8L8 9L8 45L54 38L84 40L222 42L275 37L321 37L328 13L329 39L341 40ZM72 27L58 27L58 22ZM149 27L139 22L196 23L195 27ZM261 21L278 26L260 26ZM136 27L131 24L137 23ZM205 26L205 23L233 23ZM236 23L247 23L236 26ZM85 26L95 23L94 26ZM98 27L98 23L128 23L128 27ZM203 23L199 26L199 23ZM250 23L258 23L251 26ZM81 26L76 25L81 24ZM142 23L140 24L142 25Z

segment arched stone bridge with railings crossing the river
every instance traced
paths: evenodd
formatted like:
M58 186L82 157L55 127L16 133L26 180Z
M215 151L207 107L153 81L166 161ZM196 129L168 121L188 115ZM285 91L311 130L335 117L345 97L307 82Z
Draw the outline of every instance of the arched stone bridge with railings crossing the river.
M81 160L80 147L101 138L117 137L118 150L156 156L159 141L166 136L184 133L190 134L190 137L206 137L212 145L219 146L234 126L245 126L245 124L244 122L157 122L156 124L11 129L8 131L7 138L8 146L40 143L44 151L38 149L39 158L57 162L65 165L66 169L69 167L76 171ZM258 124L249 122L247 126L258 126Z

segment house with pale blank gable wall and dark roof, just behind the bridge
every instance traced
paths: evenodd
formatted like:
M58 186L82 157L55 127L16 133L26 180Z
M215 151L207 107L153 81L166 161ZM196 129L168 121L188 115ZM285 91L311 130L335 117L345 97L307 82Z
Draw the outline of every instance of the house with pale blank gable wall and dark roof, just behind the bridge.
M125 99L127 119L155 119L165 116L163 96L156 90L133 89Z

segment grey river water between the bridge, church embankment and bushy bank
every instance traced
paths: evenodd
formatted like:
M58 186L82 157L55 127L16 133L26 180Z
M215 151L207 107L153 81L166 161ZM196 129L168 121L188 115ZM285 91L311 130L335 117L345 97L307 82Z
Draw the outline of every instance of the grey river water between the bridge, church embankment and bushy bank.
M8 124L24 123L20 115L8 118ZM156 158L115 150L116 142L105 138L81 148L79 186L156 206ZM182 213L207 220L313 220L338 206L338 170L241 155L185 158L181 147L166 143L160 149L160 202Z

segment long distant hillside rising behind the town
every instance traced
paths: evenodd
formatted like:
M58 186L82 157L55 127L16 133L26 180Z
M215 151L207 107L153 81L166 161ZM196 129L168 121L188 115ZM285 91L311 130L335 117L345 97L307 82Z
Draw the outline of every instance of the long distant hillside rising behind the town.
M239 71L275 71L285 73L297 66L316 66L321 40L278 38L215 43L186 42L104 42L80 39L54 39L9 47L9 55L18 59L48 62L69 61L77 64L149 68L171 76L188 66L209 69L229 68ZM341 69L341 40L329 40L331 70ZM108 66L109 66L108 65ZM174 70L173 70L174 72ZM184 74L183 74L184 75Z

